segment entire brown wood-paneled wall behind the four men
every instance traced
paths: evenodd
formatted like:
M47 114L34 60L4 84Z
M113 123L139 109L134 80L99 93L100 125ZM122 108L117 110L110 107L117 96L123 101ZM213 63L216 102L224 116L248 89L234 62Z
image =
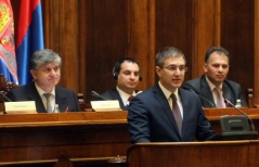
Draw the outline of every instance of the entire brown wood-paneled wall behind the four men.
M63 57L61 86L99 93L115 86L112 69L122 56L140 62L145 90L156 81L155 53L166 46L181 49L190 72L203 74L211 46L231 53L229 78L258 87L258 9L256 0L41 0L46 47ZM14 8L18 1L12 0ZM17 16L17 10L14 11ZM16 27L17 28L17 27ZM254 63L255 62L255 63ZM254 65L255 64L255 65Z

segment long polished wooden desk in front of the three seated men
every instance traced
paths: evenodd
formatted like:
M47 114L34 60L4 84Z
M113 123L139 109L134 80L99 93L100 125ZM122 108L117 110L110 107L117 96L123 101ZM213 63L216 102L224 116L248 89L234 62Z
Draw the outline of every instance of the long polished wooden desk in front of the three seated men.
M259 108L243 111L250 115L259 130ZM55 162L61 155L67 155L72 160L105 160L116 155L126 156L131 145L127 114L78 112L0 115L0 165ZM212 128L220 133L219 117L241 113L234 108L209 108L205 110L205 114ZM258 150L255 149L255 152L259 153Z

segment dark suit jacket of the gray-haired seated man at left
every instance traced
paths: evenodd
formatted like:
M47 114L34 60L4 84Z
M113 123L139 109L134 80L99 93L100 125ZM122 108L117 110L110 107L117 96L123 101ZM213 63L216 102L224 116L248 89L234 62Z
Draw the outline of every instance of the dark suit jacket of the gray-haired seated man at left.
M12 89L7 94L12 101L35 101L38 113L47 113L43 102L35 87L35 82ZM79 112L79 102L74 91L55 87L55 103L59 104L60 111Z

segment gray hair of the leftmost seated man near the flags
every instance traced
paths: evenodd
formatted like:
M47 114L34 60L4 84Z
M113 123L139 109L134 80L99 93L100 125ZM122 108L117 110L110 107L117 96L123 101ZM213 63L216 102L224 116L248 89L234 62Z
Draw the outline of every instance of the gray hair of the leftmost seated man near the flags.
M39 66L48 63L56 63L61 66L61 56L50 49L36 51L30 59L30 69L38 69Z

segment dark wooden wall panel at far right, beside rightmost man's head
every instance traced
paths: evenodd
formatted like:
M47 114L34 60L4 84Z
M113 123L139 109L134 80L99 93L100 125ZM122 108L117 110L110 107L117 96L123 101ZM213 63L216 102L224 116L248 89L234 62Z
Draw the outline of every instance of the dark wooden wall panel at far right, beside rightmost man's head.
M231 54L229 79L254 88L255 0L222 0L221 46ZM258 94L259 95L259 94Z

